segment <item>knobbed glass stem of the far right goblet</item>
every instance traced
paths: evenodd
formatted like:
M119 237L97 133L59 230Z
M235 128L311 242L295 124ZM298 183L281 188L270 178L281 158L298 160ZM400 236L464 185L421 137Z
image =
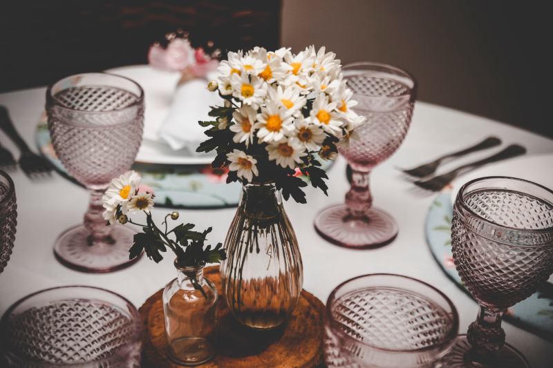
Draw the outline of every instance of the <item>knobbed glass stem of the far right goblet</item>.
M505 331L501 328L503 311L480 305L478 319L472 322L467 332L467 340L472 345L466 356L470 362L485 365L505 345Z

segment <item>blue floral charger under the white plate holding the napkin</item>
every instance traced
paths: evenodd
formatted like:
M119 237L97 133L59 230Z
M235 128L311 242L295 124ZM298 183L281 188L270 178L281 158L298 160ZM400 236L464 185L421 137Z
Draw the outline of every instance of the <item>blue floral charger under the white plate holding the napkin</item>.
M56 156L46 113L39 119L35 131L35 142L41 154L68 180L79 184ZM324 170L332 161L320 160ZM211 165L145 164L135 162L132 167L142 177L141 189L154 193L156 206L187 209L218 209L237 206L241 195L241 184L226 184L228 168L212 168ZM309 180L303 177L303 180ZM79 184L80 185L80 184Z

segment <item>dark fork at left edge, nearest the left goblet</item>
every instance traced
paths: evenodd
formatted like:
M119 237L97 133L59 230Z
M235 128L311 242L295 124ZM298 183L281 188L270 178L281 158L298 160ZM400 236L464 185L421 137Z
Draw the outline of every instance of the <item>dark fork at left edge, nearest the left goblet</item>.
M52 166L50 166L44 158L30 151L29 146L27 146L23 138L21 138L17 130L15 130L15 126L13 126L10 116L8 115L8 110L4 106L0 106L0 128L19 147L21 151L19 166L24 173L33 175L52 171Z

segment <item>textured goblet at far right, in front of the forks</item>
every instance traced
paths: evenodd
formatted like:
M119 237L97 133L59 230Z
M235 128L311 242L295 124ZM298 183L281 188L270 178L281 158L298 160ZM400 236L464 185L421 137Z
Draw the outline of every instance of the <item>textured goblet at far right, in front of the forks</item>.
M512 177L468 182L453 206L451 245L480 311L453 349L450 367L529 367L505 344L501 318L553 272L553 191Z

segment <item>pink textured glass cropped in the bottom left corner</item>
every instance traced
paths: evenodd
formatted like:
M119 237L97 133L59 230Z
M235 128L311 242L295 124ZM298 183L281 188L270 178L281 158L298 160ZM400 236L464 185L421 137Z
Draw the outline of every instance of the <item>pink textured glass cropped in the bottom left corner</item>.
M95 287L57 287L19 300L0 320L12 367L140 368L138 310Z

